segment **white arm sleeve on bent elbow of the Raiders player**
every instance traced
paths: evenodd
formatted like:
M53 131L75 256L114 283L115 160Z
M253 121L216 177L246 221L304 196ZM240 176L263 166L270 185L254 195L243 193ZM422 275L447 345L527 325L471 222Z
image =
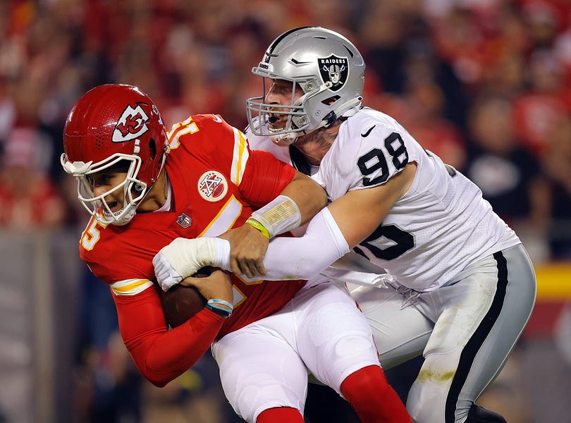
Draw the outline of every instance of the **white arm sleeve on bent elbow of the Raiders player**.
M280 237L269 243L264 279L310 279L349 252L349 245L329 209L322 209L301 238Z

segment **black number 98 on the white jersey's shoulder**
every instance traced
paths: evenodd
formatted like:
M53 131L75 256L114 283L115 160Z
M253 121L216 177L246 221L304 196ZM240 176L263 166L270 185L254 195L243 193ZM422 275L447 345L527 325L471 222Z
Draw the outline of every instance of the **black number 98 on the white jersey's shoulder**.
M400 171L408 163L408 152L405 147L403 137L399 133L391 133L384 140L386 151L391 154L391 159L395 168ZM388 179L388 164L383 154L383 150L374 148L368 153L363 154L357 160L357 166L363 174L363 185L369 187L371 185L378 185ZM376 178L367 178L368 175L381 169L381 174Z

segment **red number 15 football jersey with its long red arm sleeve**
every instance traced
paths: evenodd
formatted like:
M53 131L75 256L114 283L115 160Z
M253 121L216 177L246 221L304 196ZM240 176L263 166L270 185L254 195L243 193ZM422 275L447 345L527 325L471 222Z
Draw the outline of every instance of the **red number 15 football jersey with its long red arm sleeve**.
M191 116L174 125L168 137L170 211L139 213L125 226L92 219L80 240L80 257L111 286L121 335L135 364L160 386L192 366L214 338L277 312L305 283L247 283L232 275L231 317L224 320L203 309L168 330L154 283L154 255L174 238L216 236L241 226L295 174L271 154L251 151L244 135L219 116Z

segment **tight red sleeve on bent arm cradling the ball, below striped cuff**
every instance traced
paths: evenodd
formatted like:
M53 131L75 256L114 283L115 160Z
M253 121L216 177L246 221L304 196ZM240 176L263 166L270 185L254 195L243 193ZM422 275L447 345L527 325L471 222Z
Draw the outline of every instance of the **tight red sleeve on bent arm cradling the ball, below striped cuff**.
M207 352L224 319L209 309L168 330L154 288L137 295L113 295L119 330L137 369L156 386L165 386Z

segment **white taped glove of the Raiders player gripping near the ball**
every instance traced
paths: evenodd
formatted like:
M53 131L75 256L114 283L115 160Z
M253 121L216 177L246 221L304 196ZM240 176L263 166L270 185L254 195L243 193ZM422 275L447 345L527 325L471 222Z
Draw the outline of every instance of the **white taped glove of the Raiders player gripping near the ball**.
M230 243L220 238L176 238L153 258L156 281L165 292L204 266L230 269Z

